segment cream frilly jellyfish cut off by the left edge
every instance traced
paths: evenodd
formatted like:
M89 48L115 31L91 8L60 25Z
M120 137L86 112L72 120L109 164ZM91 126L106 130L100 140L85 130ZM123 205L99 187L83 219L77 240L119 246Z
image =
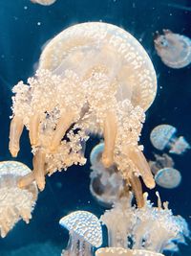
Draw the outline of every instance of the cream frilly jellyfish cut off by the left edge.
M0 162L0 235L6 237L14 224L21 219L29 223L37 199L34 182L25 189L17 186L19 178L32 171L16 161Z

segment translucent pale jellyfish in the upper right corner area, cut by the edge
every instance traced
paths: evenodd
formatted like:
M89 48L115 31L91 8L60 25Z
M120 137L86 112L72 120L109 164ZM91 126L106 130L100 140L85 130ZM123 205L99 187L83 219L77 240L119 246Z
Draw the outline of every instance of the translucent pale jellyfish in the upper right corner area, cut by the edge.
M185 35L163 30L164 35L157 34L154 42L161 60L169 67L181 68L191 62L191 40Z

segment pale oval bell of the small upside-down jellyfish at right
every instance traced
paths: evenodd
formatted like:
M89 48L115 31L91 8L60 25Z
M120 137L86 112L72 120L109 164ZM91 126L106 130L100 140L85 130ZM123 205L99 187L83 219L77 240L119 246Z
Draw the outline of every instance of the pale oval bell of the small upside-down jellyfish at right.
M174 189L180 185L180 172L174 168L163 168L155 175L156 183L166 189Z

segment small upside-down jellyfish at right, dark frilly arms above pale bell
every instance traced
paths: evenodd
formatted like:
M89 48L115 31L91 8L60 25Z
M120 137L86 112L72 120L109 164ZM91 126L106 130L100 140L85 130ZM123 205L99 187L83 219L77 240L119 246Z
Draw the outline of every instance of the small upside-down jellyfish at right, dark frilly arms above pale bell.
M174 161L167 153L155 154L156 161L149 161L151 172L155 175L156 183L163 188L177 188L181 182L181 174L174 169Z

